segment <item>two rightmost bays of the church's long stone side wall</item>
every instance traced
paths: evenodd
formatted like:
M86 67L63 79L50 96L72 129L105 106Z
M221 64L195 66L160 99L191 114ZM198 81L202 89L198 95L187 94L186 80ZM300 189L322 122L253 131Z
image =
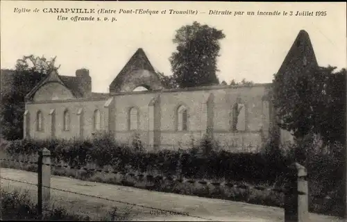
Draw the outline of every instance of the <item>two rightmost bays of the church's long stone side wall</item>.
M233 140L237 146L240 144L257 146L262 143L259 130L264 124L262 116L262 96L264 95L264 86L257 87L237 87L224 89L206 89L197 91L183 92L164 92L161 96L162 105L162 146L172 147L190 146L192 139L198 142L205 135L206 113L203 108L206 106L208 96L214 94L214 118L213 128L214 137L221 146L230 146ZM240 98L245 103L247 130L242 133L232 133L230 130L230 112L232 105ZM188 130L186 132L175 131L175 110L178 105L187 105L189 109ZM269 113L267 113L269 115Z

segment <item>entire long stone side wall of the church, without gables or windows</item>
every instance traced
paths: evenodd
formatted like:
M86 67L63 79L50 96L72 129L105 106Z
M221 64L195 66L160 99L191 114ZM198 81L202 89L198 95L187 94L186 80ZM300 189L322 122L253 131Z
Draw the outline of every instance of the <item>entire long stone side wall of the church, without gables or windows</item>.
M264 130L269 123L269 112L263 115L262 96L264 96L264 85L254 87L207 87L205 89L183 89L164 92L129 92L114 94L114 106L110 110L104 107L109 98L95 101L86 99L75 99L68 101L47 101L27 103L26 110L30 113L31 126L30 135L36 139L45 139L51 135L49 112L54 109L55 113L55 132L57 138L70 139L72 137L87 138L92 137L93 114L94 110L101 112L101 130L110 129L119 142L131 144L135 134L139 135L142 143L149 146L155 141L160 143L159 148L177 149L191 147L192 142L198 144L203 138L208 128L212 124L214 139L219 142L222 148L229 151L249 151L247 147L251 145L255 151L262 144L260 128L264 125ZM150 103L160 95L159 112L151 112ZM211 95L213 95L211 97ZM111 96L110 96L111 97ZM208 112L208 100L210 98L213 112ZM239 98L239 101L237 100ZM244 124L247 126L242 132L231 130L232 105L236 102L244 103L246 114ZM176 129L176 110L179 105L185 105L188 110L187 130L177 131ZM42 110L44 114L44 130L39 132L35 128L36 112ZM137 130L129 129L130 108L137 109ZM70 112L70 129L63 130L63 113L68 109ZM80 114L81 109L83 113ZM108 114L110 111L110 115ZM213 114L208 117L208 114ZM153 115L151 117L151 115ZM109 119L109 117L112 117ZM160 132L153 133L153 118L158 118ZM212 120L211 120L212 118ZM81 122L81 119L83 120ZM208 119L210 119L208 123ZM158 121L160 120L160 121ZM151 125L152 124L152 125ZM81 128L83 130L81 133ZM110 126L110 127L108 127ZM82 134L82 135L81 135Z

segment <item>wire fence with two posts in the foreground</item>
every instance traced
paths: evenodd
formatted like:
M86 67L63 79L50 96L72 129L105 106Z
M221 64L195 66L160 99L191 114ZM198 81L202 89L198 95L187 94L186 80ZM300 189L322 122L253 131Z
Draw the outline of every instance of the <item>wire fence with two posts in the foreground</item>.
M8 160L8 159L2 159L2 160ZM19 162L25 162L25 161L19 161ZM51 187L51 167L69 167L68 165L61 165L61 164L51 164L51 152L44 148L42 151L39 151L39 159L38 162L27 162L31 164L37 164L37 211L42 216L43 210L46 209L49 206L50 196L51 196L51 189L56 189ZM187 182L187 183L195 183L198 182L201 185L213 185L213 186L225 186L225 187L234 187L238 189L257 189L260 191L268 190L268 191L276 191L285 194L285 222L303 222L308 221L309 214L308 214L308 187L307 187L307 171L305 167L301 166L298 163L291 164L289 166L289 170L287 171L287 184L285 185L284 189L276 189L276 188L266 188L262 186L248 186L248 185L236 185L232 183L226 183L226 182L208 182L205 180L186 180L183 177L175 178L174 176L152 176L152 175L145 175L143 173L141 174L135 174L135 173L126 173L122 171L104 171L101 169L87 169L85 167L69 167L70 169L84 169L87 171L99 171L99 172L105 172L105 173L120 173L124 176L137 176L138 178L144 178L146 177L149 180L169 180L169 181L177 181L177 182ZM3 178L6 179L6 178ZM14 180L15 181L15 180ZM17 181L21 182L21 181ZM61 189L57 189L60 191L65 191ZM69 191L71 192L71 191ZM74 194L78 194L75 192L71 192ZM86 194L83 194L86 195ZM91 196L91 195L86 195ZM95 198L100 198L98 196L92 196ZM110 200L107 198L103 198L105 200ZM112 200L118 203L126 203L119 200ZM126 203L130 205L134 205L131 203ZM143 205L137 205L138 207L146 207ZM146 207L150 208L152 210L161 210L161 211L167 211L168 210L162 210L157 209L155 207ZM172 211L170 211L172 212ZM176 214L184 214L181 212L176 212ZM187 214L184 214L187 215ZM189 215L192 216L192 215ZM196 218L203 219L200 216L192 216Z

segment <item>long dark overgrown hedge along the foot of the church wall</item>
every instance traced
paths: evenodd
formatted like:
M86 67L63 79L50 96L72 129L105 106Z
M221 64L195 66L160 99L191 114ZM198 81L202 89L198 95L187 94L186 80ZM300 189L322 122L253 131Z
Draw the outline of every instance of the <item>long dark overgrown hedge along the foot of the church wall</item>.
M285 169L292 162L305 164L305 152L312 149L314 140L305 137L287 146L287 152L276 146L271 140L260 153L230 153L219 151L217 143L205 136L198 148L187 151L146 152L139 143L138 135L134 137L137 148L119 144L110 135L100 135L93 139L79 141L76 139L63 140L21 140L10 142L5 150L10 155L35 155L46 147L51 151L53 160L64 161L71 166L96 164L99 167L112 166L117 171L159 171L164 175L176 174L178 163L180 171L187 178L216 178L251 183L276 182L284 177ZM330 153L310 153L307 171L310 178L322 182L325 187L328 182L334 186L338 181L344 160L341 153L343 146L331 144ZM202 151L202 152L199 152ZM202 155L199 155L201 153ZM342 175L342 174L341 174ZM326 179L322 179L326 178Z

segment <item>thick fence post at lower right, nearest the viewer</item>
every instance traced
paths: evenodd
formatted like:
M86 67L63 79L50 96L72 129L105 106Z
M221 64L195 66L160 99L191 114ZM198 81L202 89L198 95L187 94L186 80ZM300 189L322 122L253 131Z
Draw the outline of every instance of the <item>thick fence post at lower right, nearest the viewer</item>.
M285 222L309 221L307 170L301 164L289 167L285 192Z

